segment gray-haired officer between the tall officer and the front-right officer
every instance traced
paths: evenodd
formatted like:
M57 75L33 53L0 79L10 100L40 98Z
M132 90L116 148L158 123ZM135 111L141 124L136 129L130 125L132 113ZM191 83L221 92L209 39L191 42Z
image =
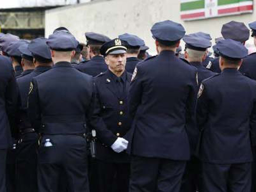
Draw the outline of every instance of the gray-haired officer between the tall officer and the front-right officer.
M211 47L209 38L204 38L200 33L193 33L183 37L185 44L185 59L189 64L198 69L198 84L201 81L215 75L203 66L203 61L207 57L207 48ZM183 182L180 192L196 192L201 189L201 163L195 156L195 147L198 140L198 130L186 130L189 134L190 148L192 151L191 160L186 164Z

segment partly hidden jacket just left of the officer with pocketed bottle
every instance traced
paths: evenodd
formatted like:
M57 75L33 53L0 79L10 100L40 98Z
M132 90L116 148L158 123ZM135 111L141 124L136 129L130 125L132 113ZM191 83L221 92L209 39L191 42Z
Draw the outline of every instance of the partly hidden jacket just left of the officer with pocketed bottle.
M27 106L28 106L28 95L29 95L29 85L33 77L38 76L41 73L49 70L51 67L47 66L38 66L31 73L26 74L25 76L21 76L17 78L17 84L19 89L19 110L17 115L18 128L20 130L26 128L32 128L29 117L27 114ZM26 71L25 71L26 72Z

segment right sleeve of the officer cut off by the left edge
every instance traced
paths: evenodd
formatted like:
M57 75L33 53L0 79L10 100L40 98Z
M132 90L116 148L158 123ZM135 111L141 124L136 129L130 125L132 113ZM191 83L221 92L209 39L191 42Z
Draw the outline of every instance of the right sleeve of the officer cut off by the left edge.
M5 93L6 100L6 113L9 119L9 124L12 132L12 136L15 136L15 114L17 113L17 82L15 79L14 71L11 71L11 78L8 81Z

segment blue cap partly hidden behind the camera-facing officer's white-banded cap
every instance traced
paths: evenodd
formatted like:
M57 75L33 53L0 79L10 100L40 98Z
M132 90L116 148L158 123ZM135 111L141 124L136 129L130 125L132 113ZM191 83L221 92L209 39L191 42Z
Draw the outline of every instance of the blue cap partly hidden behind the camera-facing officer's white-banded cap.
M126 41L128 48L130 49L140 49L141 46L145 45L143 39L139 38L136 35L131 35L129 33L124 33L118 36L122 41Z

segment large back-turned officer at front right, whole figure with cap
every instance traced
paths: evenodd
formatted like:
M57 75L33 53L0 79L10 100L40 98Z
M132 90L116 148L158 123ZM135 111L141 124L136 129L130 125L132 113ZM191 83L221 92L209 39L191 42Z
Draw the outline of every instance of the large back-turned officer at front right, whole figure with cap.
M225 39L218 42L217 50L222 72L202 81L198 92L203 191L250 192L256 81L238 71L247 56L243 44Z

